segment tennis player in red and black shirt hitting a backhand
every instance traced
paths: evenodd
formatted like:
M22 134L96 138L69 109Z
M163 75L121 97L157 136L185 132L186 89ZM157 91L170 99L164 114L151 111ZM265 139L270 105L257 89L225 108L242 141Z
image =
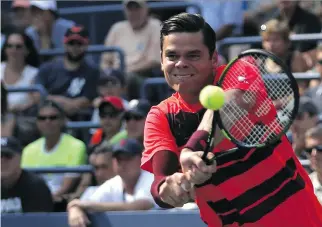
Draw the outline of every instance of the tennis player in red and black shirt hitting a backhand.
M224 68L217 67L215 49L216 34L201 16L179 14L162 26L162 69L176 93L151 108L145 125L142 169L155 176L156 203L172 208L195 200L210 227L322 226L321 205L285 137L264 152L244 150L212 165L202 161L212 112L198 97ZM223 139L213 152L232 147Z

